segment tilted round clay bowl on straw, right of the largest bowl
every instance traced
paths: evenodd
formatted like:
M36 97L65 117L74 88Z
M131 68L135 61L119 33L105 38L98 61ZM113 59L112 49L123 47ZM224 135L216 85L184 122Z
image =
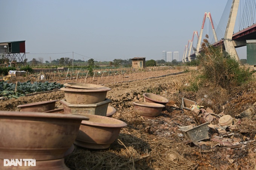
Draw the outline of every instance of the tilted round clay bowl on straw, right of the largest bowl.
M75 144L89 149L107 149L127 124L106 116L86 114L90 118L82 121Z

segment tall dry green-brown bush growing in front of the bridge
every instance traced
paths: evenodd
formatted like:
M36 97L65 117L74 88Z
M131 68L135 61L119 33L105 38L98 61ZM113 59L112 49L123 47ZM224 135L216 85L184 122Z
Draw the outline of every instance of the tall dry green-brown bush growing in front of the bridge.
M231 86L241 86L251 78L248 69L241 68L239 62L230 56L222 47L213 47L207 39L202 44L203 53L197 56L203 66L206 80L213 85L228 89Z

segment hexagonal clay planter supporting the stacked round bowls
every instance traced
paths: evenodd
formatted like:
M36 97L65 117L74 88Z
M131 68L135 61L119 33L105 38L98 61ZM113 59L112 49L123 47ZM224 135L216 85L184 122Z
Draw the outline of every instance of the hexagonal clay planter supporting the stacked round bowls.
M65 114L94 114L99 116L106 116L108 104L111 102L110 99L105 99L102 102L95 104L71 104L64 100L60 100L63 104Z

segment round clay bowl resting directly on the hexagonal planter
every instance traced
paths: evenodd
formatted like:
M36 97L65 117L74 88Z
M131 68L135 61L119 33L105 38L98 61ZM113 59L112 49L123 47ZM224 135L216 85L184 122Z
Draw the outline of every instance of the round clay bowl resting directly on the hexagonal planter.
M65 92L66 101L72 104L93 104L102 102L107 96L110 88L104 89L73 89L62 87Z

